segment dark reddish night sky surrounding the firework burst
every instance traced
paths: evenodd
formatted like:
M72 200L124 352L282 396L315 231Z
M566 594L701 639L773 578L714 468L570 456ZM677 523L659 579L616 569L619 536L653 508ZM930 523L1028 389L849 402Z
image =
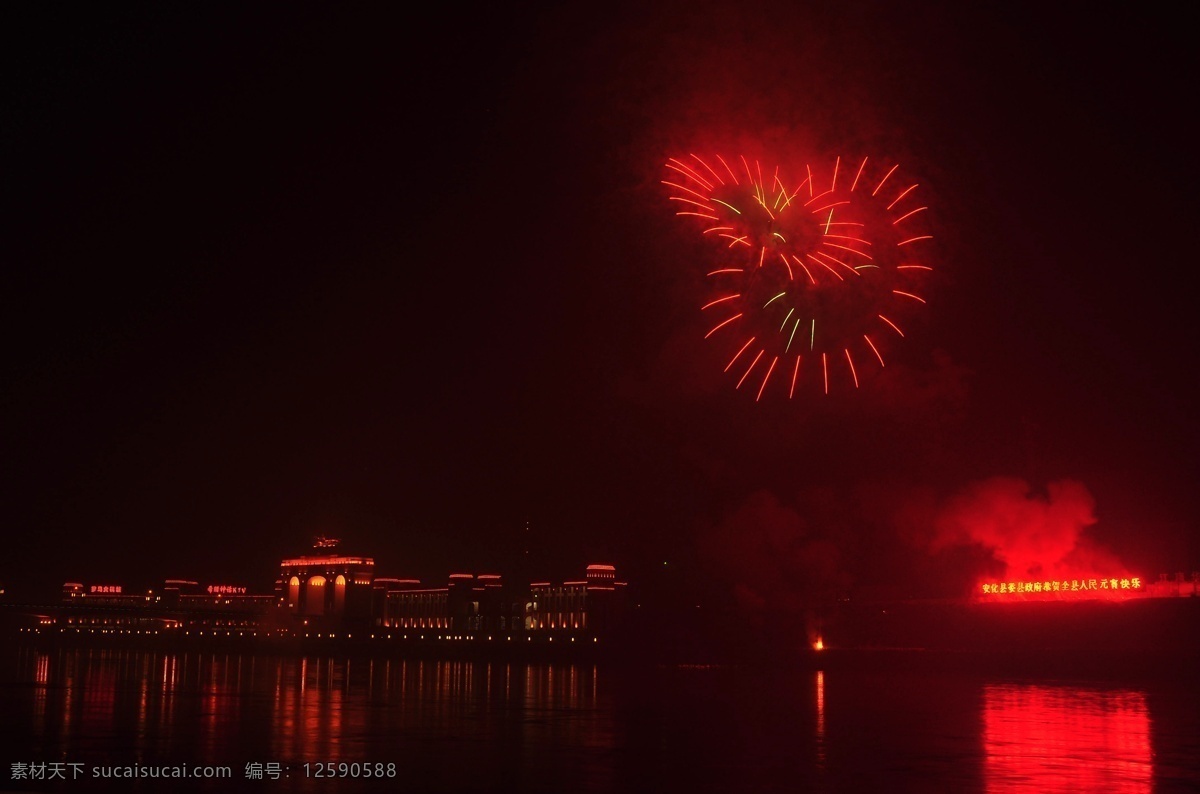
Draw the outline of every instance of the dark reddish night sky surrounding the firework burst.
M265 587L316 534L646 582L776 510L797 577L884 581L996 477L1200 566L1188 25L901 5L6 6L0 582ZM887 378L756 404L706 357L660 180L737 146L920 181Z

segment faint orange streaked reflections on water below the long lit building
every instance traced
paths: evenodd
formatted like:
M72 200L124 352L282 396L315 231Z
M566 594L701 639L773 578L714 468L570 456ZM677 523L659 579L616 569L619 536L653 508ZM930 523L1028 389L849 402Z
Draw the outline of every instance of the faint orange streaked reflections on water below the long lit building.
M475 769L485 788L572 765L583 789L611 777L596 764L613 730L593 664L97 649L23 649L16 662L5 680L28 690L5 693L0 739L30 760L391 763L466 788L479 788Z

